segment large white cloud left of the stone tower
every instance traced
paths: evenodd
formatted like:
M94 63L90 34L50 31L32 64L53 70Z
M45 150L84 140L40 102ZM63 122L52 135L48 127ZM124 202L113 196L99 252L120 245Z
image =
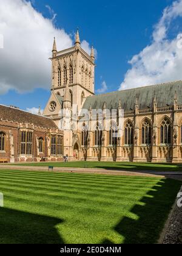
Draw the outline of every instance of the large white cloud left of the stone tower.
M0 34L0 94L50 88L53 37L59 50L73 44L63 29L56 29L52 20L23 0L0 0Z

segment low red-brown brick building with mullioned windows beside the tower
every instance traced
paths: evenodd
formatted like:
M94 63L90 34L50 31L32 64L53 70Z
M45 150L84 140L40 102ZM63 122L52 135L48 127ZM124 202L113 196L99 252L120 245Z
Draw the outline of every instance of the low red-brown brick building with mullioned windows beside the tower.
M0 162L62 161L62 143L52 119L0 105Z

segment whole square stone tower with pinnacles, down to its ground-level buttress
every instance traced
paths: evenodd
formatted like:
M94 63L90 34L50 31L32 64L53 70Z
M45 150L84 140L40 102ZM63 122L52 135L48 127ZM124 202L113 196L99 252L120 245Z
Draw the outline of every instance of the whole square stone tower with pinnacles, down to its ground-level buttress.
M64 155L72 157L72 117L69 110L81 110L87 97L94 95L95 54L92 46L90 55L81 48L79 31L76 32L75 46L58 51L53 41L51 96L45 107L44 116L52 118L59 129L64 124Z

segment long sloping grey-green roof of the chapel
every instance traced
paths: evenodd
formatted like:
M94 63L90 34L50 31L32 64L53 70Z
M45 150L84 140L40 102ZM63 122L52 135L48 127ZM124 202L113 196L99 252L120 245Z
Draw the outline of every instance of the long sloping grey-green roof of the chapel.
M175 93L178 104L182 105L182 81L177 81L90 96L86 99L83 108L89 109L91 106L92 109L102 109L104 102L106 102L106 108L117 109L119 101L121 101L121 107L124 110L134 110L136 98L138 98L140 109L152 108L155 96L157 107L165 107L166 105L174 105Z

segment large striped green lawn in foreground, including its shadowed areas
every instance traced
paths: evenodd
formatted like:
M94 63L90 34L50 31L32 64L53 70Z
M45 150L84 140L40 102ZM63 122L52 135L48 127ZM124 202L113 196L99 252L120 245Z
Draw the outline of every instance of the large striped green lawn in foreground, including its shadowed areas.
M181 182L0 170L0 243L156 243Z

